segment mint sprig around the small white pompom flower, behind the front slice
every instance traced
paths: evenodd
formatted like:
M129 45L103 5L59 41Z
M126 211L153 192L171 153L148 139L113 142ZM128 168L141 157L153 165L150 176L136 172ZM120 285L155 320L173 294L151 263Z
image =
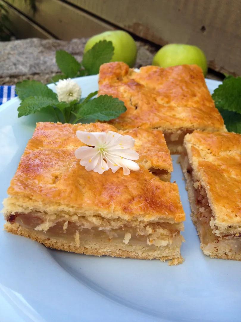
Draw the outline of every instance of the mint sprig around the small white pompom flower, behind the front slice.
M112 96L100 95L93 99L97 91L90 93L86 98L69 103L59 102L56 93L37 81L18 82L16 92L22 99L18 117L54 110L56 121L74 124L80 121L85 123L96 120L108 121L126 111L124 103Z

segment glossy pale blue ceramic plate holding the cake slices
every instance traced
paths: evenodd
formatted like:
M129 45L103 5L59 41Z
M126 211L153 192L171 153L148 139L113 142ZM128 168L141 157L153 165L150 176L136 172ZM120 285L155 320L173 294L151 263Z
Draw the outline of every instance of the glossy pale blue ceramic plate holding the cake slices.
M83 96L98 89L97 76L76 81ZM219 85L206 81L211 92ZM44 120L18 118L18 105L15 98L0 108L0 202L35 122ZM55 251L1 230L0 321L240 321L241 263L203 255L176 159L172 181L186 213L182 265Z

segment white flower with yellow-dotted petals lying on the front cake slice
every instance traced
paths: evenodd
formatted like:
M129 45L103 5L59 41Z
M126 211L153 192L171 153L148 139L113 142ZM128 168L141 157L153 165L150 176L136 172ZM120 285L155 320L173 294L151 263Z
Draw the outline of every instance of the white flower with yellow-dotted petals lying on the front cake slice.
M115 173L120 167L123 174L129 175L130 170L137 171L139 166L131 160L138 160L139 155L131 148L134 147L135 140L129 135L121 135L116 132L84 132L77 131L77 137L87 147L79 147L75 151L75 156L80 160L81 166L87 171L94 170L99 174L112 169Z

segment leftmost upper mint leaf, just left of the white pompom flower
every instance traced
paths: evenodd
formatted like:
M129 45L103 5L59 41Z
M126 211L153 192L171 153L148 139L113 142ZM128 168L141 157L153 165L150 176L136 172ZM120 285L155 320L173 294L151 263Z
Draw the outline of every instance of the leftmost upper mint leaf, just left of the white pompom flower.
M43 96L56 99L56 93L40 81L21 81L16 84L15 91L21 100L29 96Z

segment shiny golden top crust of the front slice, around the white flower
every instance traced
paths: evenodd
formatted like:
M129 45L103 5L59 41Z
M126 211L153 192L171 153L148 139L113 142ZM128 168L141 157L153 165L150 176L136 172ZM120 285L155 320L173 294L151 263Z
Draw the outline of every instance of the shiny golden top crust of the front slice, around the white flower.
M102 175L86 171L74 155L76 148L83 145L76 138L78 129L116 130L103 123L37 123L8 194L24 200L29 209L39 202L56 207L56 211L63 205L83 216L97 213L105 218L169 222L185 219L177 185L159 180L141 164L140 170L130 175L123 175L121 170Z

